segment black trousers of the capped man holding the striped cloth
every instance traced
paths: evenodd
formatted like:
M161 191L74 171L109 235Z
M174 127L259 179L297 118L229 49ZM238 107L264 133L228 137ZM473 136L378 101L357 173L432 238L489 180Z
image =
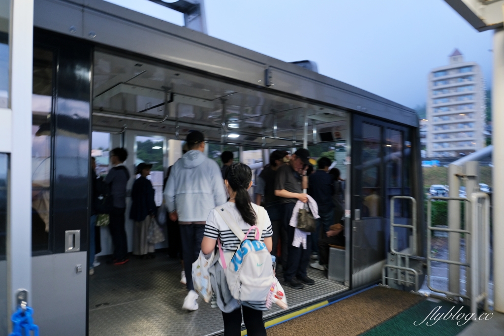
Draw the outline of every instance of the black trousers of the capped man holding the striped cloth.
M291 281L294 276L305 277L306 267L310 262L311 254L311 237L306 238L306 249L303 249L301 244L299 247L292 246L294 240L294 231L296 228L289 225L290 218L292 217L292 210L294 210L294 203L287 203L284 205L284 220L287 223L287 241L289 244L289 253L287 255L287 271L284 272L284 280ZM288 220L287 220L288 219Z

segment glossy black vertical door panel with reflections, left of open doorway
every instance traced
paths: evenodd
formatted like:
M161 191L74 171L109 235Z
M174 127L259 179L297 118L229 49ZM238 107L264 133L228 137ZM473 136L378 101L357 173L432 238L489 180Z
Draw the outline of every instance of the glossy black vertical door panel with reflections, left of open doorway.
M53 252L65 252L65 231L81 230L87 248L90 171L91 49L60 41L53 149Z

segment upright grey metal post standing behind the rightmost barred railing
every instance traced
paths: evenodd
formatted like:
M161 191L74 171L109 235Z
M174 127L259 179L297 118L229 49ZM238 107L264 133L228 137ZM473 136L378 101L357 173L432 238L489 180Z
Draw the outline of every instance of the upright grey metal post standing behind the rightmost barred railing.
M450 197L459 197L460 178L462 167L450 164L448 167L448 185L450 188ZM460 201L448 201L448 228L460 229ZM429 251L427 251L429 253ZM448 233L448 259L460 261L460 234L455 232ZM448 266L448 291L451 293L460 293L460 266L450 264Z

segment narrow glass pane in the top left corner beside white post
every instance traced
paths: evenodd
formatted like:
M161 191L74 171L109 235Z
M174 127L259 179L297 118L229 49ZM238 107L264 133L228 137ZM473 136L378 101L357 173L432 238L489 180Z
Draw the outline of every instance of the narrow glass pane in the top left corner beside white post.
M9 107L10 0L0 0L0 107Z

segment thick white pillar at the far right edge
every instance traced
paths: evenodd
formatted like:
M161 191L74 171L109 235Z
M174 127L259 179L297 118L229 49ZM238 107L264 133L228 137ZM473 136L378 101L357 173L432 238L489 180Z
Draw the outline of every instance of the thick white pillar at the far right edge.
M492 124L494 309L504 313L504 29L493 35Z

